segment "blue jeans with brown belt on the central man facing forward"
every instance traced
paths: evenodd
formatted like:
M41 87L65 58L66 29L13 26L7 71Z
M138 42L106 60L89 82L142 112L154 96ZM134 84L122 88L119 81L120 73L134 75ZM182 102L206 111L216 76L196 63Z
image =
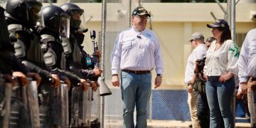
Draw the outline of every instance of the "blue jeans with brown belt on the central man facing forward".
M122 72L122 100L124 102L124 128L134 128L136 106L136 128L146 128L146 106L151 94L151 73L137 75Z

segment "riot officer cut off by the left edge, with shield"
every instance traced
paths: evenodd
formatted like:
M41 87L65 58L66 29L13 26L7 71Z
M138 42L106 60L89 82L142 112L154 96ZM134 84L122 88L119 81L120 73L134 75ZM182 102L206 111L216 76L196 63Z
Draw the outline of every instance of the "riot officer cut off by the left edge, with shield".
M0 20L4 19L4 9L0 6ZM11 46L9 41L9 34L7 31L6 23L0 24L0 127L9 126L10 116L10 103L11 103L11 88L6 87L4 82L11 82L14 85L12 79L12 66L10 64L11 55L14 52L14 47ZM9 108L8 108L9 107ZM7 120L7 121L6 121Z

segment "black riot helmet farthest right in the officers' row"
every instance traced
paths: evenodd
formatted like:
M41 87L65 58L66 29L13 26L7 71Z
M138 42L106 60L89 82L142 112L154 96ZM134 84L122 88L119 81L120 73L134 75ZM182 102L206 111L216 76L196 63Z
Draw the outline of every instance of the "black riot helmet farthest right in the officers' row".
M78 30L81 25L81 19L84 18L84 10L80 9L79 6L73 3L66 3L60 6L71 18L70 18L70 27L75 28Z

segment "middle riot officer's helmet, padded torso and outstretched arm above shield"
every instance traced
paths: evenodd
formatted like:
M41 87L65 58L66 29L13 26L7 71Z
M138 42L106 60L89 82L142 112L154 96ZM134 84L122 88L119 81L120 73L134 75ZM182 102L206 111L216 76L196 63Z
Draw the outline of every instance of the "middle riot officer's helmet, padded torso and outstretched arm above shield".
M68 38L70 16L58 6L46 6L42 10L41 49L46 65L51 70L58 71L68 76L72 85L82 84L87 90L86 80L78 75L65 70L65 55L60 36Z

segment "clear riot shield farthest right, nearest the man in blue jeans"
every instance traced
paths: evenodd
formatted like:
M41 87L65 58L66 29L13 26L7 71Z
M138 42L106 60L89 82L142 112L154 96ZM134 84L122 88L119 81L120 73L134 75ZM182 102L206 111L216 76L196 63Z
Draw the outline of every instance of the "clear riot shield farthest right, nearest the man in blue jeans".
M89 90L85 92L82 87L73 87L71 99L71 122L70 127L90 127L90 105L92 89L87 83Z

